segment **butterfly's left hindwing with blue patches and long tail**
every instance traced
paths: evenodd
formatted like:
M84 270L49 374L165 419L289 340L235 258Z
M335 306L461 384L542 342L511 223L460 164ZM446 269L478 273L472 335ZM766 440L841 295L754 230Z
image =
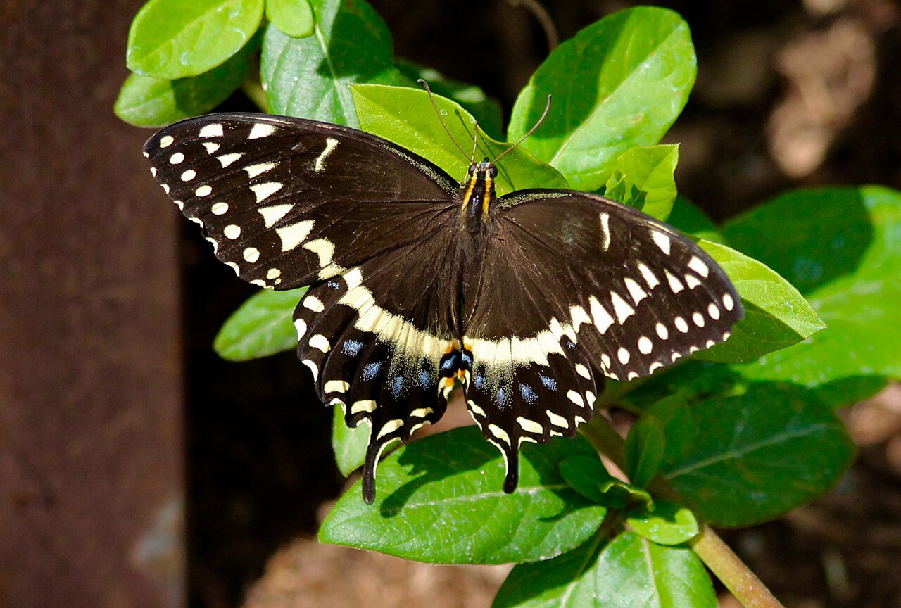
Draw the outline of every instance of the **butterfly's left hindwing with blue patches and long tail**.
M363 470L369 502L382 451L437 422L447 407L440 385L452 384L457 367L446 361L460 344L451 293L462 264L454 231L429 231L449 221L447 213L420 213L409 228L423 239L313 286L296 308L297 354L320 398L341 404L349 426L365 420L371 427Z

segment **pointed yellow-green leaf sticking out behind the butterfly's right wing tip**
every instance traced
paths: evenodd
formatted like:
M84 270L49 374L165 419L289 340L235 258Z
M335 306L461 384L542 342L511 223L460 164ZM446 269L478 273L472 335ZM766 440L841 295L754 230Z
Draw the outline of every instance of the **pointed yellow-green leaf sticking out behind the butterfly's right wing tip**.
M776 272L743 253L706 240L697 243L725 270L742 296L744 319L723 344L697 359L737 363L796 344L824 328L803 295Z

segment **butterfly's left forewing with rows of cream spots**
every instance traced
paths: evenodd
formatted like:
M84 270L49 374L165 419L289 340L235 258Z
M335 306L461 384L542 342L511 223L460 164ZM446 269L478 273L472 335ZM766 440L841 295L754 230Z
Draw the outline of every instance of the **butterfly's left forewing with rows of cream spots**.
M144 145L151 173L215 255L277 289L310 285L419 238L404 204L451 205L459 185L429 161L340 125L221 113Z

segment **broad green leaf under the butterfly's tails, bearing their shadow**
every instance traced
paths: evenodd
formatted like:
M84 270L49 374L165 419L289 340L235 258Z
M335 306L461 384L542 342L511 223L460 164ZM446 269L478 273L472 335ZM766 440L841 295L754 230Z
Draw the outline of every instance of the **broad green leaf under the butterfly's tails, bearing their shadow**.
M586 540L604 519L558 467L594 450L586 440L523 445L519 486L504 494L504 463L475 427L414 441L378 465L376 502L357 483L323 522L323 542L448 564L547 559Z

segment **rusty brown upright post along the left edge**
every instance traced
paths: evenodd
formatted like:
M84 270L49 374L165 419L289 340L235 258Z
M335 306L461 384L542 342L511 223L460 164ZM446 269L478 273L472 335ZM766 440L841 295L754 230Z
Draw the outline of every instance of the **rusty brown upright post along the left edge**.
M114 116L141 2L0 0L0 606L184 596L177 217Z

